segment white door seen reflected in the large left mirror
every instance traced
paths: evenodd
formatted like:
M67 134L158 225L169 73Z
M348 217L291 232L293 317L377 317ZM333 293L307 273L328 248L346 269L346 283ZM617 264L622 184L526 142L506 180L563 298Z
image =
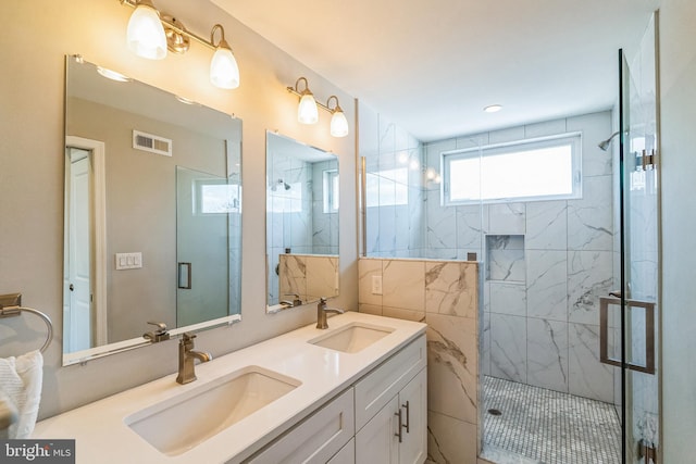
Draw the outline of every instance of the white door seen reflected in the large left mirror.
M91 234L89 151L69 148L69 351L91 347Z

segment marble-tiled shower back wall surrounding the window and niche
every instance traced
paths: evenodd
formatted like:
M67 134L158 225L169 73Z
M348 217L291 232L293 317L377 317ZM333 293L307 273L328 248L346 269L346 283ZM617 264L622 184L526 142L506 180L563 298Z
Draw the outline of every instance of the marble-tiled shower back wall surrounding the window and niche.
M613 368L599 362L599 297L612 287L611 133L601 112L425 145L426 168L443 151L582 133L583 197L440 205L426 188L424 258L482 262L482 374L613 401Z

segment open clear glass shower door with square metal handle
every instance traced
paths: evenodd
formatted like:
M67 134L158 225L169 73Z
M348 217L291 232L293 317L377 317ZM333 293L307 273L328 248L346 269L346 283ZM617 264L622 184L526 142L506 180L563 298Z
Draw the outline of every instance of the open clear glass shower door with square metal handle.
M629 65L620 55L620 310L624 462L657 463L659 446L659 171L655 28ZM613 300L613 301L611 301Z

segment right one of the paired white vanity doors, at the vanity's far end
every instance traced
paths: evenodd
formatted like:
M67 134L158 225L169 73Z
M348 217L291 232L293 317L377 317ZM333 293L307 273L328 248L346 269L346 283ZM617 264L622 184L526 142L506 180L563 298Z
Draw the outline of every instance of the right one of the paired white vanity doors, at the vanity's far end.
M421 464L427 455L427 376L425 372L426 369L422 369L399 392L402 417L400 464Z

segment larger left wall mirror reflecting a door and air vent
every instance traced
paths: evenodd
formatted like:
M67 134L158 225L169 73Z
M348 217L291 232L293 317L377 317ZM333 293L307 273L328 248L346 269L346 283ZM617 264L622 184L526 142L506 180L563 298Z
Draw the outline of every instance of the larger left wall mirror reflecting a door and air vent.
M241 121L79 57L65 83L63 364L240 319Z

